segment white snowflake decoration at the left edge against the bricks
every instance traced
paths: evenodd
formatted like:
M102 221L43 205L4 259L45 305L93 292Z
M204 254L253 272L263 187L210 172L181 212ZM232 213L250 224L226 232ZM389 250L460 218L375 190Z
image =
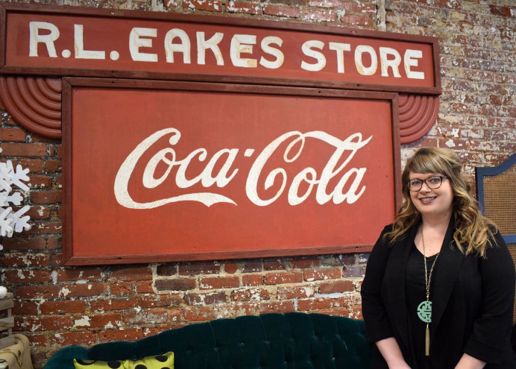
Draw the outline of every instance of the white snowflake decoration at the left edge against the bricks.
M1 149L0 149L1 152ZM23 169L21 165L17 165L14 169L11 161L0 163L0 235L2 237L12 237L13 232L22 232L24 229L30 229L28 223L30 216L23 216L29 206L23 206L19 211L14 212L11 205L20 205L23 197L20 192L13 192L12 187L17 186L22 191L28 191L29 187L22 181L28 181L28 169ZM3 247L0 245L0 250Z

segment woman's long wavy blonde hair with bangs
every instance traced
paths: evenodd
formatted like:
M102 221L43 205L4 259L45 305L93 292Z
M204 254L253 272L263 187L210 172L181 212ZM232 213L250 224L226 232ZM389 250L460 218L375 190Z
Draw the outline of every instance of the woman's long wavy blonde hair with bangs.
M486 256L486 249L496 233L494 223L484 217L478 210L477 200L470 194L470 184L462 172L459 156L448 149L422 148L409 159L401 174L403 203L401 205L391 232L386 233L389 244L403 238L408 230L421 219L410 198L408 188L409 174L442 173L450 181L453 189L453 214L455 216L455 233L453 238L458 249L464 254L475 253Z

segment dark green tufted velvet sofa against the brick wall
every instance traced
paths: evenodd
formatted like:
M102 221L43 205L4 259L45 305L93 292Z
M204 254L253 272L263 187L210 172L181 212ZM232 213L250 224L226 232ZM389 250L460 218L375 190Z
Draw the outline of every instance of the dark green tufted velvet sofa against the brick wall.
M74 369L73 359L126 360L174 352L175 369L369 369L363 320L300 312L215 319L134 342L58 350L44 369Z

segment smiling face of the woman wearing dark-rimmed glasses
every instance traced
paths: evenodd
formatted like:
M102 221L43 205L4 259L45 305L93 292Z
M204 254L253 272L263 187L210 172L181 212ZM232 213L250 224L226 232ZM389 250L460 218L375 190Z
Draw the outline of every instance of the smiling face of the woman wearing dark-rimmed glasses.
M420 190L410 191L412 203L422 216L451 213L453 188L451 188L450 181L444 177L438 188L430 188L439 185L438 177L444 177L444 175L442 173L415 173L412 171L409 174L409 181L420 180L423 182ZM430 187L428 187L428 184Z

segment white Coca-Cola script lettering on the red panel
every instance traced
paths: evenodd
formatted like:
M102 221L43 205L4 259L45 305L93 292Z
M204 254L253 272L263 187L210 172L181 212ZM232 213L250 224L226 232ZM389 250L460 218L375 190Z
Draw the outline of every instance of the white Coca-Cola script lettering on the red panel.
M159 139L168 135L170 135L168 139L170 147L154 148ZM314 167L307 166L289 177L286 170L287 166L297 161L308 145L307 139L309 138L329 145L332 154L328 157L324 167L319 169L319 172ZM329 201L334 204L340 204L344 201L348 204L354 203L364 194L366 189L361 182L367 168L352 167L350 162L353 156L364 148L372 138L373 136L362 139L362 134L358 132L351 134L344 140L323 131L287 132L272 140L252 162L245 182L246 196L257 206L267 206L275 202L285 191L288 191L287 199L290 205L298 205L312 194L320 205ZM255 150L223 148L208 159L208 151L205 148L198 148L180 158L174 150L176 145L180 145L180 140L181 132L170 127L153 133L136 146L125 158L116 175L114 190L116 200L120 205L131 209L150 209L179 201L197 201L206 206L216 203L238 205L231 198L231 194L223 195L219 192L234 179L240 170L240 168L235 167L235 159L239 155L252 157ZM284 148L285 145L286 148ZM129 182L142 155L152 153L153 148L156 153L145 165L141 178L141 184L144 188L157 188L175 173L174 184L176 187L189 189L200 184L204 188L209 188L209 190L205 192L192 191L149 202L135 201L129 190ZM266 164L272 157L275 158L275 163L279 160L282 166L263 173ZM206 165L196 177L189 179L186 171L192 163L206 163ZM165 165L166 170L158 171L158 165ZM330 185L330 181L332 185ZM259 188L269 189L275 183L280 184L275 194L267 198L260 195Z

